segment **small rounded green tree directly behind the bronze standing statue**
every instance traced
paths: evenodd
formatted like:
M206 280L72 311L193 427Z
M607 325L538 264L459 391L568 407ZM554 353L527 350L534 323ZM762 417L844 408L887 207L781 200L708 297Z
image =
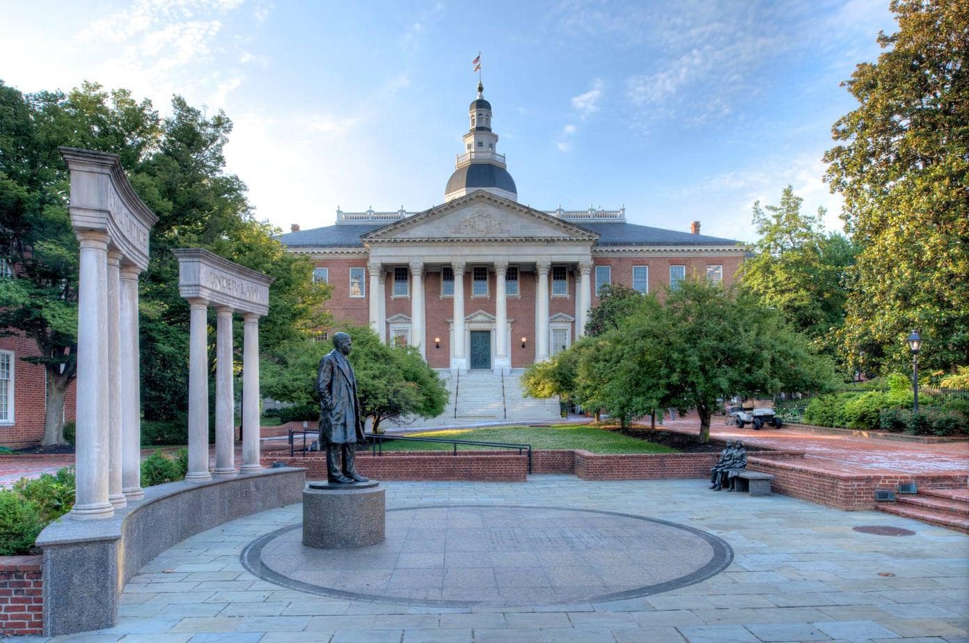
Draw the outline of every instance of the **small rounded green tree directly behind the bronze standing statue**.
M357 376L360 413L373 417L373 433L380 424L405 415L434 417L444 413L447 386L427 366L414 347L388 346L370 328L346 329L353 339L350 363ZM263 389L281 402L318 403L316 372L328 342L304 340L288 345L263 368Z

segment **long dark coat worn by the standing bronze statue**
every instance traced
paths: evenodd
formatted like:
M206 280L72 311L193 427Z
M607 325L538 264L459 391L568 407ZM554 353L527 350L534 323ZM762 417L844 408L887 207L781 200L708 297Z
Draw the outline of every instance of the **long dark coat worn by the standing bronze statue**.
M363 442L357 378L342 352L333 349L320 360L316 392L320 395L320 439L334 444Z

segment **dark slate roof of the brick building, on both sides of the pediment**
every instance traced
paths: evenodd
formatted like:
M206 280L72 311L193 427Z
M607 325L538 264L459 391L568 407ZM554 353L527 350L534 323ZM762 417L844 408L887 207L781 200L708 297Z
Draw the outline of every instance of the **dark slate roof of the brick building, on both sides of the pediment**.
M579 228L598 232L596 246L733 246L739 242L718 236L664 230L627 223L575 223ZM362 248L360 236L388 224L339 224L315 230L287 232L278 238L286 246L320 246L325 248Z

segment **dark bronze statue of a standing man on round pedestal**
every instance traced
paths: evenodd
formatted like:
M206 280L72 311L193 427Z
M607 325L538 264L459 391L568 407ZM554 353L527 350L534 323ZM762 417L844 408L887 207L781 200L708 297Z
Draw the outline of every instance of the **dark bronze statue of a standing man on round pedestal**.
M367 482L354 467L357 441L363 442L363 418L357 399L357 378L347 355L353 341L333 335L333 350L320 360L316 392L320 396L320 444L327 449L327 479L337 484ZM341 465L342 455L342 465Z

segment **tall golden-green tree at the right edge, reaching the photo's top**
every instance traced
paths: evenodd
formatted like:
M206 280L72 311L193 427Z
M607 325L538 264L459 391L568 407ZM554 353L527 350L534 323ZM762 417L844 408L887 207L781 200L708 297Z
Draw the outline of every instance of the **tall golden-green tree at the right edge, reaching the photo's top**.
M969 363L969 4L892 0L899 30L844 85L827 180L860 246L841 343L888 372L919 328L928 369Z

